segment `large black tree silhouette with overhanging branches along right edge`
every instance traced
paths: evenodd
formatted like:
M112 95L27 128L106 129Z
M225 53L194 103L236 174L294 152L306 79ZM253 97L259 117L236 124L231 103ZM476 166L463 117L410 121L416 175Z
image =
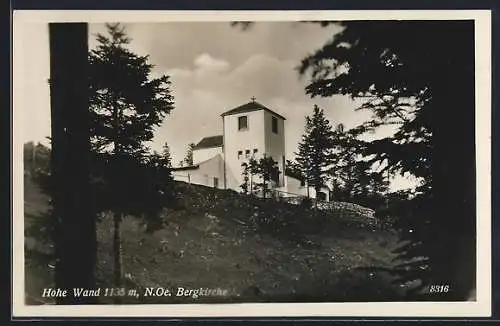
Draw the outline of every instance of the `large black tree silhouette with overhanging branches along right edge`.
M323 25L328 24L323 23ZM449 284L440 300L475 287L474 24L472 21L350 21L302 61L311 96L363 98L362 134L400 124L363 154L392 172L421 177L397 212L404 245L400 281ZM423 258L422 258L423 257ZM428 296L428 295L427 295Z

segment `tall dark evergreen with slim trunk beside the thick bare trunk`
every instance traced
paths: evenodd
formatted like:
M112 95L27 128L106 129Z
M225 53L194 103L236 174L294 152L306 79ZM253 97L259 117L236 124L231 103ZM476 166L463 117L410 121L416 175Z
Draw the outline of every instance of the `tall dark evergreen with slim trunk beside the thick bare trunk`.
M171 195L165 184L170 181L169 171L162 170L165 161L160 164L158 155L149 154L144 143L173 109L173 97L169 77L152 78L149 57L127 48L130 39L124 28L119 24L106 28L108 35L97 35L98 45L89 55L91 134L95 179L101 180L96 184L101 195L96 196L97 209L113 212L114 282L121 286L123 217L144 210L146 217L158 217L151 211L159 207L154 199ZM158 176L158 170L164 172L160 173L163 179L146 182Z

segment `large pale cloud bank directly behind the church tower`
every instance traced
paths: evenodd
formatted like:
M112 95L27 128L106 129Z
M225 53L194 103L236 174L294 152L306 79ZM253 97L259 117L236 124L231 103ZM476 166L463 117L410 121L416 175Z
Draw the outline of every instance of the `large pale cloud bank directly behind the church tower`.
M205 56L203 61L222 60ZM159 148L168 141L176 161L180 160L189 142L221 134L221 113L250 101L252 96L287 118L288 156L296 151L304 131L304 118L312 112L314 104L324 108L334 124L342 122L353 127L363 121L364 113L354 111L359 104L344 96L309 98L304 92L307 81L299 79L294 67L291 60L256 54L238 66L226 66L224 72L200 64L192 69L169 70L176 109L158 130L155 146Z

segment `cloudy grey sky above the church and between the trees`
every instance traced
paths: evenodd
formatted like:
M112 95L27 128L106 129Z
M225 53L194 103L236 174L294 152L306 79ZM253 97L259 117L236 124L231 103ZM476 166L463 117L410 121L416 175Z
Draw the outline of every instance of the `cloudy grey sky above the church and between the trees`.
M222 134L220 114L257 102L283 115L286 120L287 158L292 158L304 131L305 116L313 106L324 109L332 125L355 127L369 112L355 111L360 102L346 96L310 98L304 87L307 77L296 71L302 58L330 40L338 26L320 27L294 22L259 22L243 31L228 22L171 22L124 24L132 39L130 49L149 55L154 76L169 75L175 109L155 132L150 144L161 150L168 142L174 165L183 159L187 145L203 137ZM48 25L24 23L14 26L14 109L23 116L26 141L47 144L50 135ZM89 46L103 24L89 25ZM390 133L381 130L368 137ZM397 177L391 188L401 189L413 181Z

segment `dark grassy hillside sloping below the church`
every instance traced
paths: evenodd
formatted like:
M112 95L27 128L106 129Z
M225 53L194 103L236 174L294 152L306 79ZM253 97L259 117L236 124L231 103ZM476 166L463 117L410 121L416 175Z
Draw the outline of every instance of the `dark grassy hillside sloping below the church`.
M390 267L396 237L373 219L185 183L177 188L183 208L165 212L167 223L160 231L147 233L141 220L132 217L123 222L127 287L164 287L174 292L177 287L220 288L227 295L141 296L125 303L400 299L400 289L380 269ZM26 227L47 208L47 198L27 178ZM111 232L110 217L104 216L98 226L97 270L103 288L112 286ZM48 302L41 298L42 289L52 285L53 262L47 252L50 244L26 237L28 303Z

